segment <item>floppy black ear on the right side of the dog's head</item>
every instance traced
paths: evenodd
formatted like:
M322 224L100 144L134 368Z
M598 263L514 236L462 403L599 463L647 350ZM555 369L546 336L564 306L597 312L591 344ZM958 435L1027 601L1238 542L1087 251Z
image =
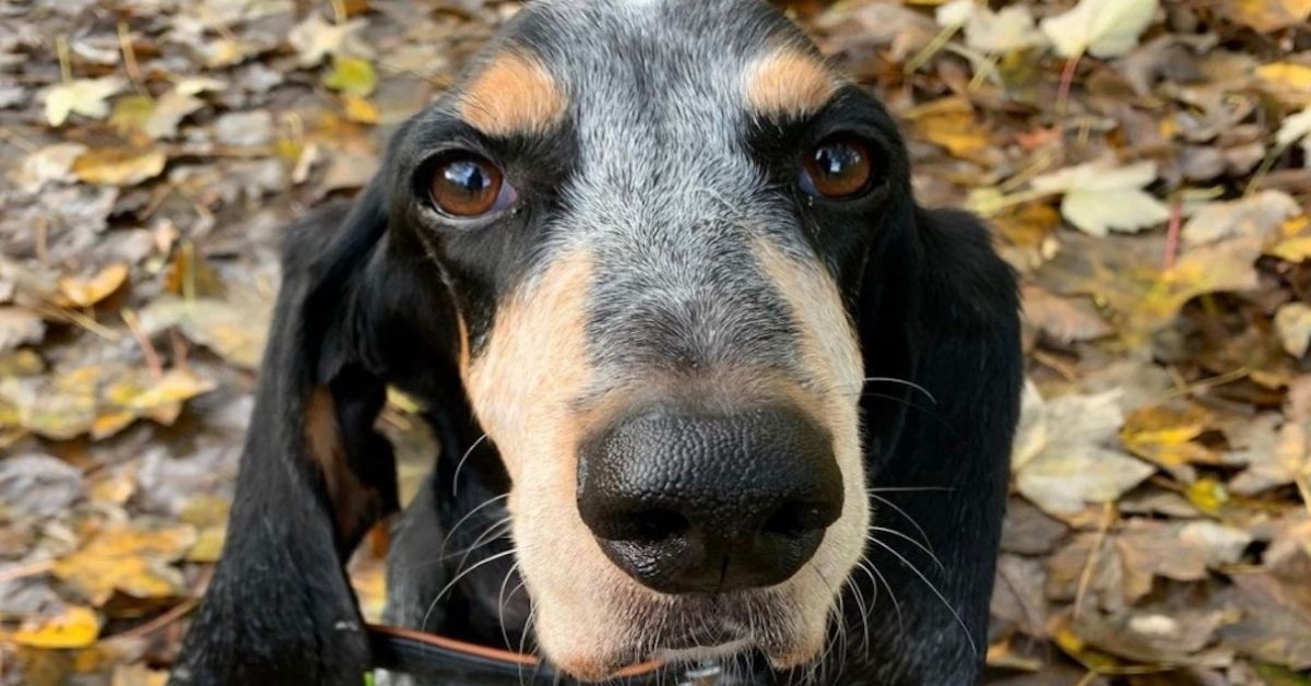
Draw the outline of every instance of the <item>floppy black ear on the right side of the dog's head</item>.
M874 380L863 399L876 527L867 560L885 580L869 669L873 683L973 683L1019 418L1019 296L977 218L906 214L867 268L860 313L869 376L923 388ZM941 565L903 536L927 538ZM857 580L869 599L873 578Z

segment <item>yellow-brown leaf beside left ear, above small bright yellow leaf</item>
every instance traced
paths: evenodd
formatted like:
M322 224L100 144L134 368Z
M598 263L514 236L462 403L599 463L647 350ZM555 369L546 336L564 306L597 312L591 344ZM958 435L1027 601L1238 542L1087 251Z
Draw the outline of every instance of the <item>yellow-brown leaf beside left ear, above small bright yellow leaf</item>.
M181 595L186 584L172 563L195 543L190 525L110 525L76 552L55 561L55 576L77 588L93 605L115 590L135 598Z

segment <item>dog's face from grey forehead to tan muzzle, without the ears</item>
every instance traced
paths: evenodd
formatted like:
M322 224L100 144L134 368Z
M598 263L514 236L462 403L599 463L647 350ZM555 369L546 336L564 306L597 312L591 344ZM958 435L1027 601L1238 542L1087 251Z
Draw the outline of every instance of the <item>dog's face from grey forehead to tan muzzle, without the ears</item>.
M869 521L861 285L910 207L885 110L756 0L540 1L389 164L548 657L818 657Z

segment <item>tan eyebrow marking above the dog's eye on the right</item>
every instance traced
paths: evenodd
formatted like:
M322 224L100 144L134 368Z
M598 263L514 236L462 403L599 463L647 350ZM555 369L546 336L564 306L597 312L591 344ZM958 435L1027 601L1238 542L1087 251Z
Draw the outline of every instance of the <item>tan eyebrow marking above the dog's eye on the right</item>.
M766 117L819 111L838 85L839 79L822 60L791 46L754 59L743 80L747 106Z

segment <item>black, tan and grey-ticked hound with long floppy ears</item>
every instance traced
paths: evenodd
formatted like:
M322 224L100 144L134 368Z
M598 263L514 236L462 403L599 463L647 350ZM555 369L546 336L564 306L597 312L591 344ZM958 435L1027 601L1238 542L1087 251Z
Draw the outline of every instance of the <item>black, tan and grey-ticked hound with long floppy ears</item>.
M440 447L392 623L583 682L977 682L1017 310L987 228L916 205L893 118L768 4L530 3L290 230L173 683L361 683L342 563L399 508L388 386Z

